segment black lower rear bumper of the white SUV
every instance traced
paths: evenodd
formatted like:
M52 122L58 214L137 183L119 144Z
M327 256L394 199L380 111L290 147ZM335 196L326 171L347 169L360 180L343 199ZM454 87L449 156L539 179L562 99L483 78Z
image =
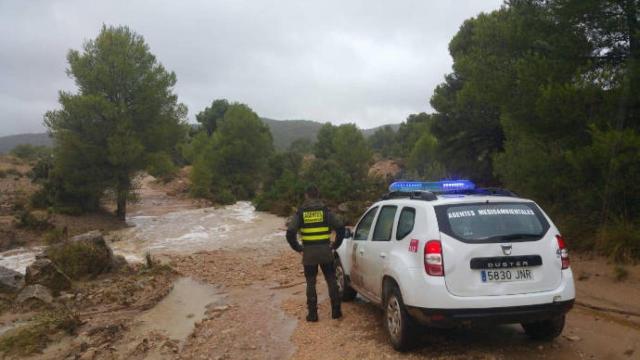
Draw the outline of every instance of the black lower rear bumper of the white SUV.
M477 309L426 309L408 306L409 314L422 324L450 325L456 323L512 324L547 320L566 314L574 300L548 304Z

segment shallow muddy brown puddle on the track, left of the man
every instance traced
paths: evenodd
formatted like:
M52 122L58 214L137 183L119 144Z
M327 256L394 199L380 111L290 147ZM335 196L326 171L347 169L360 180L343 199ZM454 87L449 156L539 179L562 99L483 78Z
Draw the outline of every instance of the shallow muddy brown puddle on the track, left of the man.
M144 335L162 332L173 340L183 342L197 322L205 317L207 305L221 302L222 294L207 284L191 278L180 278L171 292L152 309L142 313L132 331Z

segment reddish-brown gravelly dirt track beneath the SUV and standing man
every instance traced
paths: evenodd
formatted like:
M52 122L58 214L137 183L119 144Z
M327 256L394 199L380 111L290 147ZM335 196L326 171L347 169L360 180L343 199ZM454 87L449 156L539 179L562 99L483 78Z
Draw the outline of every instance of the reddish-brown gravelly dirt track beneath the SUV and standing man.
M574 256L579 305L553 342L531 341L518 325L424 328L419 345L407 354L388 345L381 311L360 298L343 305L343 319L331 320L323 281L320 322L305 322L300 257L284 239L168 259L179 274L223 294L217 299L222 305L197 324L176 354L181 359L640 358L640 318L622 314L640 314L640 267L616 281L612 264L598 257Z

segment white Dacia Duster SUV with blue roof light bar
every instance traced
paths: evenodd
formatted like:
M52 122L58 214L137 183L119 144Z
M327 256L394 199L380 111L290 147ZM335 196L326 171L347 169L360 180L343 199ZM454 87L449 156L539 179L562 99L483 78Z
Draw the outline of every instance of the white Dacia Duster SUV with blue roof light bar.
M347 231L336 275L344 301L359 293L382 306L395 349L411 346L416 323L520 323L534 339L560 335L573 275L538 205L466 180L390 190Z

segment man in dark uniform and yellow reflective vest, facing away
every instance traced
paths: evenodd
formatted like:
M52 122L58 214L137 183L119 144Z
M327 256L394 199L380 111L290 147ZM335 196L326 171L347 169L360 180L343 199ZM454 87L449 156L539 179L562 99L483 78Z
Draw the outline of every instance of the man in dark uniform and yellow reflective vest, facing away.
M331 298L331 318L342 317L340 295L333 268L333 252L342 244L344 225L320 201L320 192L315 185L307 187L305 201L291 218L287 229L287 242L291 248L302 253L304 277L307 279L307 321L318 321L318 295L316 293L316 277L318 265L329 288ZM336 241L331 244L331 230L336 232ZM296 235L300 231L302 245Z

